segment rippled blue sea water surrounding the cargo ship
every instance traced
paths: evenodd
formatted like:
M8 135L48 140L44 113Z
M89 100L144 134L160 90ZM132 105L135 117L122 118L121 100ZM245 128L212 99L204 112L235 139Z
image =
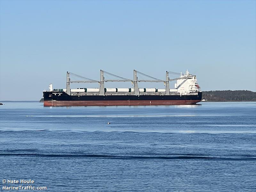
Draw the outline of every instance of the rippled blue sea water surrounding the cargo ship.
M256 103L43 107L5 102L0 191L5 191L3 179L31 179L32 186L63 192L255 191Z

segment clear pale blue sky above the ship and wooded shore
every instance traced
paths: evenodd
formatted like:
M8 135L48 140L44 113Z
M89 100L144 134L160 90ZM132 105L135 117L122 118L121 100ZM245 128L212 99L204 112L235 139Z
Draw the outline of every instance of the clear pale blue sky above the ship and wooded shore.
M255 92L256 1L0 1L0 100L40 100L50 83L66 87L67 71L99 80L100 69L188 69L202 91Z

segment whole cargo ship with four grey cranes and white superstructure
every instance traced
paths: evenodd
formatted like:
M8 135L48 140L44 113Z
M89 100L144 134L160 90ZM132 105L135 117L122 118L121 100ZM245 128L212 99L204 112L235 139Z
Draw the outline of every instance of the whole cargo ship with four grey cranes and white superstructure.
M104 74L117 79L106 80ZM137 74L151 80L138 79ZM170 79L169 74L178 75ZM82 78L82 81L71 81L71 76ZM133 80L117 76L100 70L100 81L89 79L71 72L67 72L66 89L53 89L49 85L48 91L43 91L44 106L135 106L135 105L191 105L202 100L202 92L197 84L195 75L188 70L182 73L166 71L166 79L161 80L133 70ZM105 82L132 82L132 88L105 88ZM177 81L174 89L170 89L169 82ZM138 82L164 83L165 89L139 88ZM71 89L72 83L98 83L99 88Z

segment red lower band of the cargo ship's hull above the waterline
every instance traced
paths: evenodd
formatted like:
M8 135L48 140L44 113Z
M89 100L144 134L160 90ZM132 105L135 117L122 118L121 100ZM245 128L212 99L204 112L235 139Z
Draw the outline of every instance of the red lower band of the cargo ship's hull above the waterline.
M133 105L191 105L201 100L140 100L140 101L44 101L44 106L133 106Z

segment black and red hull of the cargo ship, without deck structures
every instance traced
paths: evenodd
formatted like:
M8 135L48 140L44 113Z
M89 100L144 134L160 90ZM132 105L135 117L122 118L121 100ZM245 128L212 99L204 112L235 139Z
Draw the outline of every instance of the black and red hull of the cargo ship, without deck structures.
M65 92L43 92L44 106L138 106L191 105L202 100L197 95L68 95Z

